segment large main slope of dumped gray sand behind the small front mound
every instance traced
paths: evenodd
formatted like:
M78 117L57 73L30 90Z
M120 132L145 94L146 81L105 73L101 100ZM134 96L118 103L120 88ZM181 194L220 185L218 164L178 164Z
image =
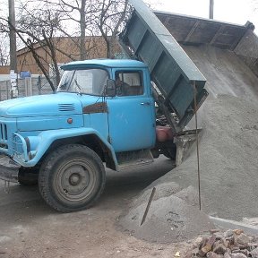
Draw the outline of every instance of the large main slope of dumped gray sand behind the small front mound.
M241 220L258 214L258 106L228 95L202 110L200 142L202 211ZM193 146L194 148L194 146ZM153 185L176 182L197 189L196 151Z

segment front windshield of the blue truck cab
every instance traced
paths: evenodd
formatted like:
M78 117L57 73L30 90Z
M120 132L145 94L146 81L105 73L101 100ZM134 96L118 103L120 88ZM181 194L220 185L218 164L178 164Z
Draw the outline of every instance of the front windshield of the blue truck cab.
M56 91L101 96L107 79L107 71L101 69L64 71Z

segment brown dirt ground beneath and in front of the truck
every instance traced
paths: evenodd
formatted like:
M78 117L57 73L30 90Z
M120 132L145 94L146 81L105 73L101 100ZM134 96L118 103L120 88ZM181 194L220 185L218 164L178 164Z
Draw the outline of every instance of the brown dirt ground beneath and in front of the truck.
M99 202L87 211L68 214L51 210L37 186L0 185L0 257L174 257L188 243L158 245L121 232L116 220L133 196L173 164L159 158L154 164L123 173L107 171L107 187ZM181 257L184 257L181 256Z

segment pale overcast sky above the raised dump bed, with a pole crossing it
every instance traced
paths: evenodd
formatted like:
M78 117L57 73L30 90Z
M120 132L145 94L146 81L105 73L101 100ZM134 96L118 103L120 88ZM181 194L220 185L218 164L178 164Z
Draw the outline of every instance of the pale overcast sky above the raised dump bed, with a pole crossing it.
M209 17L210 0L145 0L159 11ZM253 22L258 34L258 0L214 0L214 20L245 25Z

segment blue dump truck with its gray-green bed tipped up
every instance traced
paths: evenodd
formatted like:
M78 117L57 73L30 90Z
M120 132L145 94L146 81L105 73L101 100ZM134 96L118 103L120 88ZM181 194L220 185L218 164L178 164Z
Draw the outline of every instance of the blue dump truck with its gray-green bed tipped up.
M202 73L155 14L131 4L120 35L130 58L64 64L54 94L0 103L0 178L38 183L57 211L99 198L103 164L120 171L159 154L175 159L173 138L207 97Z

